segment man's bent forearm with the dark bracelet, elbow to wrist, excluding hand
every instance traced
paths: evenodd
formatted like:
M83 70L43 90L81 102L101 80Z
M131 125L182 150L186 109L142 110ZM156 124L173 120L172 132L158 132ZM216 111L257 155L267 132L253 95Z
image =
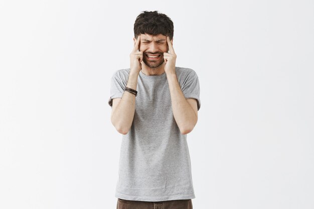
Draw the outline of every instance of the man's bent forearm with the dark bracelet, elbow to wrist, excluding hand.
M138 73L130 72L126 87L136 90ZM135 95L124 91L120 102L112 112L111 122L117 130L126 134L134 118Z

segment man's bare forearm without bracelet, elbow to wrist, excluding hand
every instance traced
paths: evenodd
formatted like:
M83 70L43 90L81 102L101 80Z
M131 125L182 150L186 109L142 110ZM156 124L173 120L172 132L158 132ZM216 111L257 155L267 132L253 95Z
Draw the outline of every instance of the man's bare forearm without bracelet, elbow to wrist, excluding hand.
M167 79L174 118L181 133L187 134L191 132L196 125L197 116L187 99L184 97L176 74L167 74Z

